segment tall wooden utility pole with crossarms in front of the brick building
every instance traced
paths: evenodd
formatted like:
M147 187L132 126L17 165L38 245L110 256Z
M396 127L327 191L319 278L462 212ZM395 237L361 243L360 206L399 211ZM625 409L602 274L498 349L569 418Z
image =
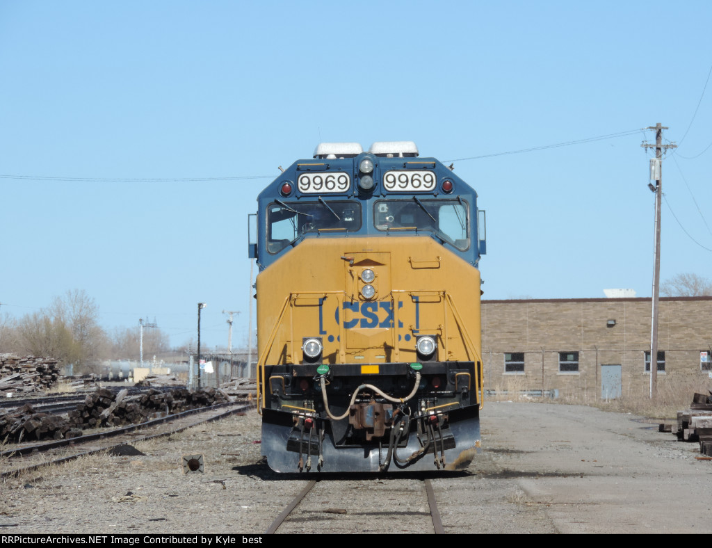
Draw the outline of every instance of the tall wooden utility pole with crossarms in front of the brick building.
M640 146L644 149L655 149L655 158L650 161L650 179L655 181L655 184L648 184L651 191L655 193L655 246L653 251L653 307L652 320L650 327L650 398L653 399L656 395L656 384L658 380L658 304L660 295L660 204L663 195L663 180L662 180L662 163L663 151L667 149L677 148L674 143L663 144L663 127L658 122L654 127L648 127L649 130L655 130L655 144L643 142Z

